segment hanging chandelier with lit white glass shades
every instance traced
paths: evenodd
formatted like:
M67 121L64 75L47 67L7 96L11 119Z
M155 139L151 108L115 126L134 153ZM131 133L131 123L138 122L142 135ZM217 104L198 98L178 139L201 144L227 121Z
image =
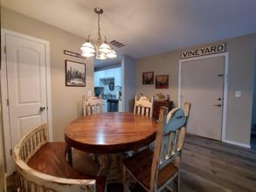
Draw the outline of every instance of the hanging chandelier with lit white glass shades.
M81 55L84 57L93 57L96 52L97 59L117 58L115 51L111 48L111 44L107 43L106 36L101 37L100 35L100 14L103 13L103 10L96 7L94 12L98 14L98 38L95 40L92 35L89 35L86 43L80 47L82 51Z

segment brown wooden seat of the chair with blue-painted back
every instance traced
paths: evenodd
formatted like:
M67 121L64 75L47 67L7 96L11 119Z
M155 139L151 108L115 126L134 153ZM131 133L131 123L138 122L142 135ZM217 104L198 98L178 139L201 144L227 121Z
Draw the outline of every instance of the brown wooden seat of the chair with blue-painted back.
M123 161L128 171L147 189L150 188L153 154L153 151L146 148ZM162 168L158 173L157 188L159 189L163 183L175 175L177 171L178 168L176 168L173 163L169 163Z

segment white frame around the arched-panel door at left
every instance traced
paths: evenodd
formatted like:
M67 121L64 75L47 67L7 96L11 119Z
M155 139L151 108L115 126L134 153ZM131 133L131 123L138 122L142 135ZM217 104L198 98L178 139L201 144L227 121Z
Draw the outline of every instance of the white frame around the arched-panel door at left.
M13 150L11 147L11 137L10 137L10 119L9 119L9 106L7 105L8 99L8 82L7 82L7 60L4 47L6 46L5 35L13 35L19 38L30 39L32 41L36 41L38 43L45 45L45 62L46 62L46 106L47 106L47 127L48 127L48 137L49 141L52 141L52 98L51 98L51 72L50 72L50 43L43 39L33 38L31 36L27 36L21 33L17 33L14 31L9 31L1 28L1 102L2 102L2 115L3 115L3 138L4 139L4 153L5 153L5 166L6 166L6 175L11 175L12 170L14 168L13 164ZM9 138L9 140L8 140ZM12 149L12 154L10 153Z

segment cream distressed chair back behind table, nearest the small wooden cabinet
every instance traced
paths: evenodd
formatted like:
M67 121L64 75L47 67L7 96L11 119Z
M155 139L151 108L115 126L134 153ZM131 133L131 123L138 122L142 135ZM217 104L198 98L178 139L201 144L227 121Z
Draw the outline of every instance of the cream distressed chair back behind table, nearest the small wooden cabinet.
M152 117L154 99L155 99L155 96L152 96L151 99L148 99L145 96L142 96L140 99L138 99L138 95L136 94L135 95L134 113Z

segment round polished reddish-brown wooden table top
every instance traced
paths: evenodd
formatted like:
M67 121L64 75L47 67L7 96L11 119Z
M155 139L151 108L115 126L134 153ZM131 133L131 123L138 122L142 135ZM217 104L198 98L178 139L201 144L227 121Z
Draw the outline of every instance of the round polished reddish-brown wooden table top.
M149 145L156 139L156 120L136 113L97 113L73 120L65 141L88 153L114 154Z

